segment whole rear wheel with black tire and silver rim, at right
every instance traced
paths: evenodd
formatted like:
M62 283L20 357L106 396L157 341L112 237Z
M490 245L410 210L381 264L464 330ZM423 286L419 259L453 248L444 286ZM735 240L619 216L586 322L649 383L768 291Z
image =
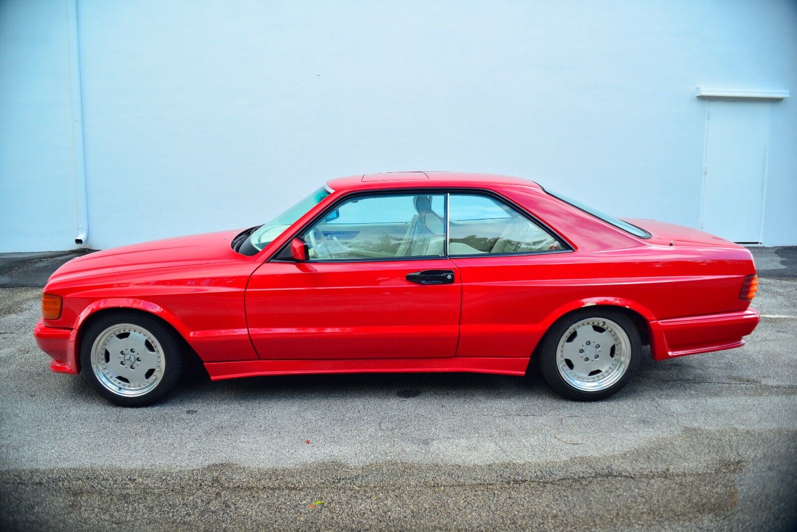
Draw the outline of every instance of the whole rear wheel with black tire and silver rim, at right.
M584 309L554 324L540 349L540 367L560 395L576 401L609 397L630 381L642 358L634 322L621 312Z

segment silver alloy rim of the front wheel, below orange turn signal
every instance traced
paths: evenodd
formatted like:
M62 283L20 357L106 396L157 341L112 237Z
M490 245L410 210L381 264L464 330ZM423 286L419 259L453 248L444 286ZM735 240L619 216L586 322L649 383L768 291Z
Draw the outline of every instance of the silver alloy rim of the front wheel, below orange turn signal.
M92 370L97 380L116 395L139 397L155 389L166 360L157 338L132 323L117 323L94 339Z

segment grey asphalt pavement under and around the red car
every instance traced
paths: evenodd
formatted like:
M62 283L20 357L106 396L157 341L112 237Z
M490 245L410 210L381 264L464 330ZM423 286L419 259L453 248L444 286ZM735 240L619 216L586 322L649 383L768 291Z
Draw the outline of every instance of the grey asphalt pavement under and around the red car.
M748 345L614 397L479 374L196 372L123 409L31 331L69 258L0 256L2 530L795 530L797 253L754 251Z

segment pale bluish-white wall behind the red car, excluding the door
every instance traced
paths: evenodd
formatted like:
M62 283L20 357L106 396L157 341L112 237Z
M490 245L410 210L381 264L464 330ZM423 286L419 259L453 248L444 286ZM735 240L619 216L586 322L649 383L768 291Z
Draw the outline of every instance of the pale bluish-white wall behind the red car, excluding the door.
M708 104L695 88L797 90L787 0L79 2L92 248L254 225L327 178L383 170L516 174L697 227ZM68 113L62 72L21 59L66 61L62 2L19 3L3 4L2 28L49 38L33 57L0 33L3 112L47 70L59 84L41 99ZM793 100L772 104L770 245L797 244ZM0 136L14 152L0 251L73 247L74 200L35 205L50 176L56 198L73 194L69 129L52 125L64 110L25 109ZM17 153L28 137L45 153Z

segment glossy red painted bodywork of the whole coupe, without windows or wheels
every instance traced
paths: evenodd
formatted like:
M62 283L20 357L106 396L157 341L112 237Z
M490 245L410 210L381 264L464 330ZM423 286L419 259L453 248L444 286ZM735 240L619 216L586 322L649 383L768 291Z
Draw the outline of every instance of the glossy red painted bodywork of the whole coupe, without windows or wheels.
M86 323L130 308L159 316L214 379L259 374L477 371L523 374L540 338L581 307L633 312L654 359L728 349L758 323L740 299L756 272L747 249L708 233L627 220L634 237L520 178L412 172L328 182L332 194L254 256L238 231L95 252L64 264L45 292L55 320L34 335L53 371L77 374ZM329 205L364 190L486 190L548 225L571 250L374 262L270 261ZM455 282L418 285L409 272L450 269Z

